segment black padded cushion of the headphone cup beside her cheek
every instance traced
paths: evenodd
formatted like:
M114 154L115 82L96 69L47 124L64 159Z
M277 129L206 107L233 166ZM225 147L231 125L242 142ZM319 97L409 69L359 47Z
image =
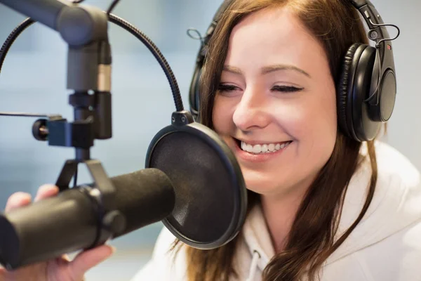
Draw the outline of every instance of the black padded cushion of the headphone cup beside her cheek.
M352 106L352 88L354 84L354 72L356 67L353 66L354 55L361 44L356 43L348 48L347 53L342 62L342 72L339 77L339 84L337 89L337 104L338 104L338 123L342 132L349 138L356 139L355 133L352 131L352 116L349 107Z

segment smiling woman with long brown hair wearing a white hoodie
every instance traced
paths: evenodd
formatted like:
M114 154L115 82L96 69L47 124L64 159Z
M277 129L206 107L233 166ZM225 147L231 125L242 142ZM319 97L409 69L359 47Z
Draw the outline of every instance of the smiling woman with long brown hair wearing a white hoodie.
M342 61L356 42L366 33L347 1L232 2L210 41L201 122L239 160L246 223L208 251L174 245L164 229L133 280L419 280L420 174L338 126ZM47 185L39 198L56 192ZM29 202L13 195L8 209ZM110 254L102 246L3 274L79 281Z

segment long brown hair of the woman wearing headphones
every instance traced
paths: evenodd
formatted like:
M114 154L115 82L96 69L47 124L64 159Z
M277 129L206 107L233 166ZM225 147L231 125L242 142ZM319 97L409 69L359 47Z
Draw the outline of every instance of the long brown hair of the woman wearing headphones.
M202 124L213 128L213 99L227 55L229 35L234 26L250 13L285 6L292 8L303 25L319 39L326 51L330 73L336 84L339 83L342 58L349 46L355 42L368 44L359 14L345 0L234 0L221 15L209 41L201 77L199 119ZM348 183L361 162L361 143L347 138L338 130L333 153L307 190L295 215L286 247L269 262L263 272L263 280L293 281L305 275L309 280L316 279L323 262L354 230L373 198L377 162L373 141L368 141L367 146L372 175L366 202L356 221L335 239ZM255 198L253 192L250 195ZM186 247L189 280L228 280L230 275L236 275L232 263L239 242L238 236L218 249L199 250L182 246Z

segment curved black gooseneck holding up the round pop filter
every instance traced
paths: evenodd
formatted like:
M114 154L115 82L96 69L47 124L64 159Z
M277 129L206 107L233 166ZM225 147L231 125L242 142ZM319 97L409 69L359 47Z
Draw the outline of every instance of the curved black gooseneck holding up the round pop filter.
M79 1L79 3L83 0L76 0ZM76 2L75 2L76 3ZM122 18L119 18L116 15L109 14L110 22L113 22L115 25L119 25L119 27L123 27L123 29L127 30L131 34L133 34L136 38L138 38L140 41L142 41L145 46L149 49L149 51L152 52L152 55L158 60L159 65L161 65L161 68L163 72L166 74L166 77L168 79L168 82L170 83L171 91L173 93L173 99L175 103L175 109L177 111L184 110L184 106L182 105L182 99L180 96L180 89L178 87L177 80L175 79L173 70L171 70L170 65L168 65L167 60L163 57L161 51L159 51L159 48L155 46L154 42L152 42L149 37L147 37L145 34L143 34L140 30L138 30L136 27L131 25L129 22L126 22L126 20L123 20ZM25 30L27 27L32 25L34 23L34 20L31 18L27 18L24 20L18 27L9 34L8 38L4 42L3 46L0 50L0 72L1 72L1 65L4 63L4 59L6 58L6 55L11 48L11 45L15 41L15 39Z

